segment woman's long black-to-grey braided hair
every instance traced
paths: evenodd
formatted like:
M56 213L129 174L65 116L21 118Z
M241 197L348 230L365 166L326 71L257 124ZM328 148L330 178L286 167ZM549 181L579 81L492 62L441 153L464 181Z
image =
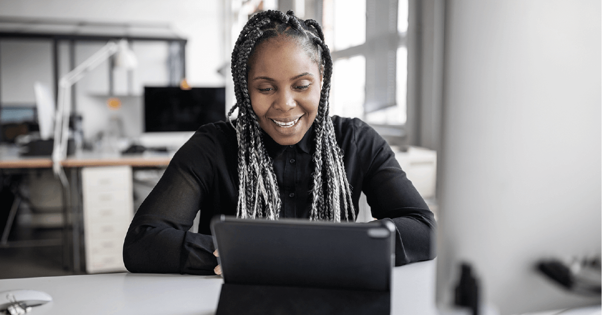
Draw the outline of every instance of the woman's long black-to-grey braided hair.
M230 121L237 131L238 141L237 216L278 219L281 208L272 159L261 138L262 129L251 106L247 83L249 61L255 53L255 47L269 38L279 36L297 40L323 74L320 103L312 134L315 151L312 157L314 173L309 219L339 222L343 213L346 221L355 221L351 187L343 165L343 150L337 144L334 126L328 115L332 58L324 43L321 26L315 20L297 18L293 11L285 14L273 10L251 17L240 32L232 51L232 78L237 102L228 112L228 117L238 108L235 126Z

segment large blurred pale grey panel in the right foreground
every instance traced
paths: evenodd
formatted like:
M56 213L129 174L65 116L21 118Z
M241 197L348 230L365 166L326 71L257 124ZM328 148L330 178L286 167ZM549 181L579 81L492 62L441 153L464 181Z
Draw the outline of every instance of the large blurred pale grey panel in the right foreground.
M445 5L439 307L462 263L494 313L600 305L537 268L600 256L600 1Z

